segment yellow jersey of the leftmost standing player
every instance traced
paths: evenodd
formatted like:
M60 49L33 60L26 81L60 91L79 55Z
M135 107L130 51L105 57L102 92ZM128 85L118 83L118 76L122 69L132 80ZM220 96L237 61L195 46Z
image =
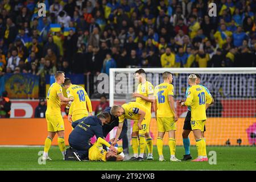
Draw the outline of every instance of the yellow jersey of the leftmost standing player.
M62 88L57 82L53 83L47 93L47 109L46 114L57 115L60 111L60 98L58 94L62 93Z

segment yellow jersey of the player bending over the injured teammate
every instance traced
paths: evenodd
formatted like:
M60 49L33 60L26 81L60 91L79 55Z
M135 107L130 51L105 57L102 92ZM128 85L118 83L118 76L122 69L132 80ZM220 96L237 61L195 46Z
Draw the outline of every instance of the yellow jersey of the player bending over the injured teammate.
M139 119L139 110L143 110L146 115L151 114L150 110L148 110L145 106L139 104L138 102L128 102L126 104L122 105L123 110L125 110L125 114L121 115L119 117L119 122L123 122L126 119L133 119L138 120Z

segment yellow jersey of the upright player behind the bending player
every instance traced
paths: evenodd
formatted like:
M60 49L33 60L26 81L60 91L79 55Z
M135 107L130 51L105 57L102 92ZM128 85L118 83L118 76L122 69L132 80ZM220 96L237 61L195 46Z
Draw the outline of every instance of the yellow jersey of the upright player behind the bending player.
M146 81L144 84L138 85L137 93L148 97L150 94L154 94L154 86L151 84L151 82ZM147 109L151 111L151 102L144 101L141 97L137 97L136 102L147 107Z

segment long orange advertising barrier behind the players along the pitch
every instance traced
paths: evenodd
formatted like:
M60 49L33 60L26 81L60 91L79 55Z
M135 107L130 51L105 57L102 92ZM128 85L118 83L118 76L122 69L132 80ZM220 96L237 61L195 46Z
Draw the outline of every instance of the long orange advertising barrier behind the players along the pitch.
M229 125L227 125L227 123ZM68 135L72 131L71 123L64 119L65 142L68 145ZM183 145L181 133L184 118L177 121L176 144ZM132 123L130 123L132 125ZM238 127L239 126L239 127ZM256 131L256 118L208 118L205 138L208 145L226 145L229 139L231 145L238 145L237 139L241 139L241 145L256 143L252 135ZM151 121L151 136L154 144L158 135L155 118ZM114 129L114 134L117 129ZM129 134L128 134L129 135ZM228 136L228 138L227 138ZM44 145L47 137L46 119L0 119L0 145ZM107 137L109 140L110 137ZM189 134L191 144L195 145L193 134ZM119 144L122 142L119 141ZM163 143L168 144L168 134L164 136ZM53 145L57 145L57 137L53 139Z

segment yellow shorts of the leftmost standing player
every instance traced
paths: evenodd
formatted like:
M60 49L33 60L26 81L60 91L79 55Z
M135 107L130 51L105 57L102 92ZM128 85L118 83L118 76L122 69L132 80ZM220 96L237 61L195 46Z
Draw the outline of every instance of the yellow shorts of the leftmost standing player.
M49 115L46 114L47 130L50 132L65 130L64 121L61 114Z

